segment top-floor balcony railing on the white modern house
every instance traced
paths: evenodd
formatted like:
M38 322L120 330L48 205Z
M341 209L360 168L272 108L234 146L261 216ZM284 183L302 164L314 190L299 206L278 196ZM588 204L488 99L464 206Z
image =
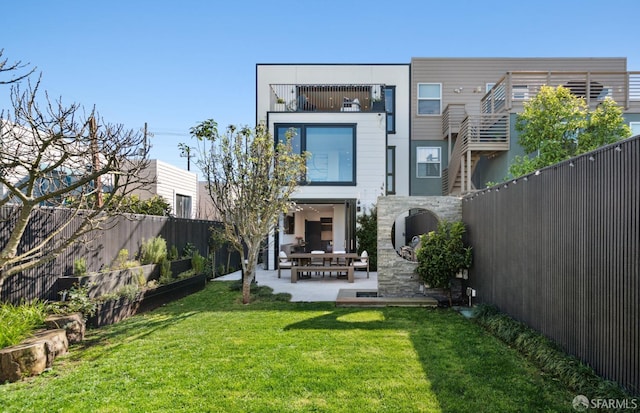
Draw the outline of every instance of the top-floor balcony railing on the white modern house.
M384 85L272 84L272 112L384 112Z

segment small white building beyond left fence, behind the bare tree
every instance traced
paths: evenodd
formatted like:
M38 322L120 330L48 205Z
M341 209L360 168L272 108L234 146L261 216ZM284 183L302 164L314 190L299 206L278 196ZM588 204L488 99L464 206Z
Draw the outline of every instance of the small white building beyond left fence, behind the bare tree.
M145 179L152 180L146 188L132 192L140 199L149 199L154 195L163 197L171 212L177 218L196 217L198 202L198 175L157 159L149 161L149 167L142 172Z

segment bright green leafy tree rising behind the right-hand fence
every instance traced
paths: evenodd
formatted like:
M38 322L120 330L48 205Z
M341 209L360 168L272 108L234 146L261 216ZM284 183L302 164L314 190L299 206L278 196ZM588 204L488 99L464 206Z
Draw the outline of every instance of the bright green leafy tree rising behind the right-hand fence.
M517 156L509 168L512 176L525 175L631 136L622 110L612 99L606 98L596 109L589 110L584 98L562 86L542 86L534 98L525 102L516 130L520 133L520 146L535 156Z

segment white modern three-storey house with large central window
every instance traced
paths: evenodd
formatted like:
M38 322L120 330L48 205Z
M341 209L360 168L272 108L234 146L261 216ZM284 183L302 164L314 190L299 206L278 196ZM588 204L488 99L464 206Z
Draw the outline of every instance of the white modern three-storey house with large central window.
M408 88L408 64L257 65L256 121L276 140L293 128L294 149L311 153L293 196L297 209L284 217L271 253L302 242L354 251L357 213L380 195L408 195Z

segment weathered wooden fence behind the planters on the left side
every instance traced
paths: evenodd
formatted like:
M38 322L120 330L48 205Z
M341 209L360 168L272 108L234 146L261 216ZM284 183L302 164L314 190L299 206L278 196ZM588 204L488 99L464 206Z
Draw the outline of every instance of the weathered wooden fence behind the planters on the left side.
M60 227L60 221L65 219L66 214L69 214L69 210L36 211L22 237L20 248L35 245L43 236L51 234ZM0 209L0 215L0 247L2 247L10 235L11 221L15 219L16 211L7 207ZM99 271L111 266L122 249L128 250L129 257L133 259L137 256L142 243L156 236L164 238L168 248L175 245L179 253L189 243L193 244L201 255L207 256L210 228L213 225L216 225L213 221L148 215L114 217L107 223L107 229L91 233L89 242L78 243L51 262L7 278L0 290L0 301L18 302L21 299L34 298L57 300L59 297L57 297L56 280L61 276L73 274L73 262L76 258L86 258L88 271ZM68 233L60 234L61 237L67 235ZM216 253L216 266L226 265L229 254L231 253L226 246L220 248ZM238 254L232 254L230 258L231 265L239 267Z

